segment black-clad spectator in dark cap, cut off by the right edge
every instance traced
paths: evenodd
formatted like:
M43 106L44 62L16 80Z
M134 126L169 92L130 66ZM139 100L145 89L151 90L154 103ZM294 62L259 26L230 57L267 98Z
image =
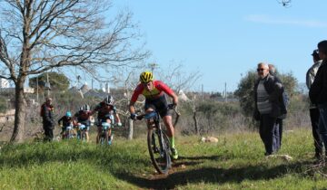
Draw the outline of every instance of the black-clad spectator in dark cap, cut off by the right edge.
M312 103L317 105L319 109L320 117L318 128L325 147L325 154L327 154L327 40L318 43L318 53L319 57L322 59L322 64L309 90L309 96Z

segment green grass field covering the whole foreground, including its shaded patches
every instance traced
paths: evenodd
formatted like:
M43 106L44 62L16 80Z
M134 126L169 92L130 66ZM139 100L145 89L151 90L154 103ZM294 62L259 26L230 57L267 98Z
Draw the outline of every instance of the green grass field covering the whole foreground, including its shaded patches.
M310 130L285 132L278 154L263 156L258 133L218 136L216 144L178 137L180 159L157 175L145 138L115 138L102 147L74 140L25 143L0 150L0 189L323 189L324 166L314 164Z

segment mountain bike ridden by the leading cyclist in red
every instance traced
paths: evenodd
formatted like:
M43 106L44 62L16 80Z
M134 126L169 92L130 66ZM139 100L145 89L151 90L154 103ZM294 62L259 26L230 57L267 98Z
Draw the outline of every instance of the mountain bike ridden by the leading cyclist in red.
M179 112L173 109L176 113L176 118L173 126L177 124ZM169 138L163 131L159 112L154 110L149 113L144 113L136 117L136 119L147 119L147 145L151 161L154 168L159 174L167 174L169 168L172 167L171 148Z

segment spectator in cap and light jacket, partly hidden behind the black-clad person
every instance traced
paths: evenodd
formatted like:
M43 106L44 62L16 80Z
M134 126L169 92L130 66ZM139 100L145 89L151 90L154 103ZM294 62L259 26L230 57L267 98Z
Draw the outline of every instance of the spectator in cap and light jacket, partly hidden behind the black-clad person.
M312 86L312 82L314 81L314 77L317 74L317 71L319 67L322 64L322 60L319 57L318 50L314 50L312 52L312 58L313 58L313 65L312 67L307 71L306 73L306 85L308 87L308 90L310 90ZM316 105L312 104L310 101L310 119L312 121L312 136L314 139L314 147L315 147L315 154L314 157L320 159L322 157L322 138L319 135L319 109Z

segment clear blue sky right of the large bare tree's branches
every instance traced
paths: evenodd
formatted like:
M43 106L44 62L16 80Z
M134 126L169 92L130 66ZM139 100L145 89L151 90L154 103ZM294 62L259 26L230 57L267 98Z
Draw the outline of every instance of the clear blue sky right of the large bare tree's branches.
M194 90L236 90L258 62L274 64L299 81L312 65L312 50L327 39L326 0L116 0L128 8L144 33L149 62L161 67L181 62L203 76Z

